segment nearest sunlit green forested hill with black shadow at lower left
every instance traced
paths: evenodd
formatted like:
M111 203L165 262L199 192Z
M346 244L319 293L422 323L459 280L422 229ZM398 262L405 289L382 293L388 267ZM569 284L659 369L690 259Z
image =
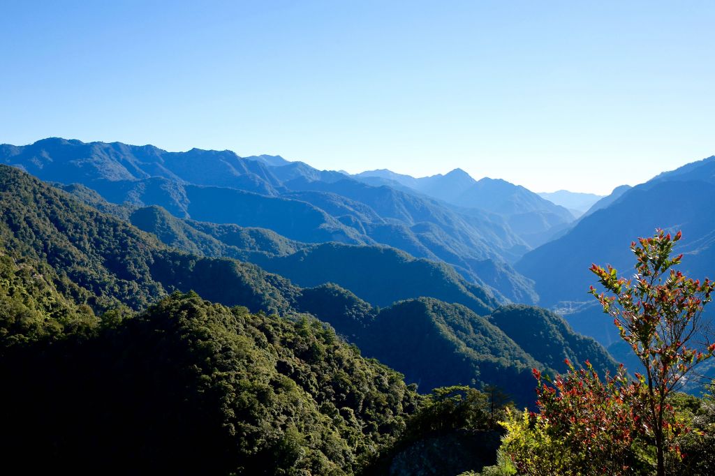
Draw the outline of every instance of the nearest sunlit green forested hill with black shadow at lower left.
M0 381L12 389L0 395L12 435L0 455L9 467L354 474L420 405L400 374L311 317L174 294L137 317L97 319L51 282L37 286L40 271L0 257L10 284L0 288Z

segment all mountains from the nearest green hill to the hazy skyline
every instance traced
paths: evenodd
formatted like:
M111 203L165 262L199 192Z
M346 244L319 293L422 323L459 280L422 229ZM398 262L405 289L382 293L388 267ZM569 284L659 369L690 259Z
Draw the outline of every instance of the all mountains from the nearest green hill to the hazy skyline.
M455 435L450 471L478 469L475 388L533 408L532 370L631 366L591 262L627 275L656 227L685 274L715 259L715 157L567 207L460 169L65 139L0 162L0 456L38 472L387 474Z

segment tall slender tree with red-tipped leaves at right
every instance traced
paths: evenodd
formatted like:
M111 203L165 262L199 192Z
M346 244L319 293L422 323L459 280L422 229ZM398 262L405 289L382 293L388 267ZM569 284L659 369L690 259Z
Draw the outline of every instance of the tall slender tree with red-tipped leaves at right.
M623 340L631 345L643 364L645 375L636 374L636 397L644 403L644 425L656 447L657 474L665 475L665 455L674 445L677 424L668 405L671 392L677 390L693 368L711 357L715 344L697 349L701 336L703 307L711 300L715 283L685 277L671 269L683 255L671 258L673 247L681 239L656 230L650 238L631 243L636 255L636 274L631 279L618 277L610 265L606 269L593 264L591 271L611 295L591 294L611 314Z

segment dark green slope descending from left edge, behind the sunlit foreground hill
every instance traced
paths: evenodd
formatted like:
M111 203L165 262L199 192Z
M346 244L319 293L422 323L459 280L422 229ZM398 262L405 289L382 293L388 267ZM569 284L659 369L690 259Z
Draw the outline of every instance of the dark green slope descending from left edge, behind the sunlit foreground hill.
M286 296L295 292L285 279L253 264L170 249L153 235L4 165L0 243L14 257L46 261L90 292L87 304L97 310L120 303L142 309L174 289L194 289L228 305L285 311L290 307Z

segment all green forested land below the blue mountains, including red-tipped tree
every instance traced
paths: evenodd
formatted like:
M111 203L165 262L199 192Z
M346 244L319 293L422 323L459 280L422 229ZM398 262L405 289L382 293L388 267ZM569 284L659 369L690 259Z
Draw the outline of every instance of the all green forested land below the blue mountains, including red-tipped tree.
M680 234L633 244L638 269L664 277L661 287L592 270L613 294L594 289L595 299L647 364L641 375L557 314L504 304L440 264L64 188L0 165L8 467L712 474L714 387L694 396L671 383L715 346L681 342L687 327L670 341L653 337L656 317L677 330L713 291L669 274ZM371 272L374 282L355 278Z

